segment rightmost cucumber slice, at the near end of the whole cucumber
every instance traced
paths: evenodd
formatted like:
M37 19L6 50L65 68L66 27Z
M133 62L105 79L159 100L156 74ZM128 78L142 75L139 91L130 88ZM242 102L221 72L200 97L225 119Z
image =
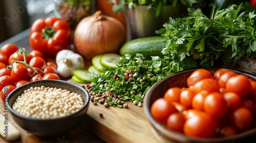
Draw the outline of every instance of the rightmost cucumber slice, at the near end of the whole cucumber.
M102 55L99 62L102 66L105 66L109 70L113 70L113 69L115 69L116 65L118 64L119 57L121 57L121 56L118 54L107 53L107 54Z

